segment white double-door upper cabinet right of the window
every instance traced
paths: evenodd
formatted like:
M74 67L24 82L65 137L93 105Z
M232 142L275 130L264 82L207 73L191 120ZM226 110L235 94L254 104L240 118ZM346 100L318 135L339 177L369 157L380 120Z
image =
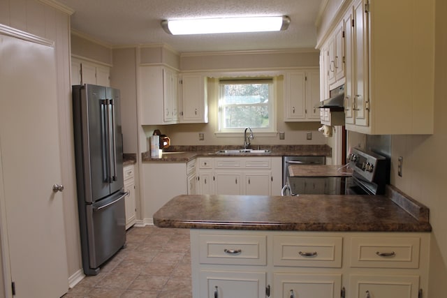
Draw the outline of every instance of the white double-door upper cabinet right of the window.
M319 121L320 73L293 70L284 74L284 121Z

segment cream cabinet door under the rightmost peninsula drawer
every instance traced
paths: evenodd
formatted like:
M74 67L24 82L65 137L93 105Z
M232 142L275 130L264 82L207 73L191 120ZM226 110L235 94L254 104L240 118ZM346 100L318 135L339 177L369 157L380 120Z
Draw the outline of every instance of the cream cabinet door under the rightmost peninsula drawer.
M351 275L351 297L418 298L419 276Z

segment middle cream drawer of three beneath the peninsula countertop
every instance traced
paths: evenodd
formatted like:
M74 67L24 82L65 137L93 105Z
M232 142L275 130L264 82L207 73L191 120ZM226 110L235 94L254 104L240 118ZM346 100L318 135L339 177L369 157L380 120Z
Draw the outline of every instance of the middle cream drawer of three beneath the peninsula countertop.
M342 267L342 237L273 238L275 266Z

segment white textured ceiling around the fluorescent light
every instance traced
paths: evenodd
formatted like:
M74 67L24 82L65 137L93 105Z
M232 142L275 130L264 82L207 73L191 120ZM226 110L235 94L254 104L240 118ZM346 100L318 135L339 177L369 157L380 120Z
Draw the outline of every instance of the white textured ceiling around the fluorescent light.
M166 43L178 52L313 48L324 0L59 0L73 8L71 27L112 46ZM286 31L172 36L163 19L288 15Z

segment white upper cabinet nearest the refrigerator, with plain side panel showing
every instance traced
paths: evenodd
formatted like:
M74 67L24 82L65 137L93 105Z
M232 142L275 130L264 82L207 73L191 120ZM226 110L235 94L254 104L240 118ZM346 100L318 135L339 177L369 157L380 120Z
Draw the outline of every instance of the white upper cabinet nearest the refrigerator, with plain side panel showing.
M141 125L178 123L178 75L165 66L140 66Z

